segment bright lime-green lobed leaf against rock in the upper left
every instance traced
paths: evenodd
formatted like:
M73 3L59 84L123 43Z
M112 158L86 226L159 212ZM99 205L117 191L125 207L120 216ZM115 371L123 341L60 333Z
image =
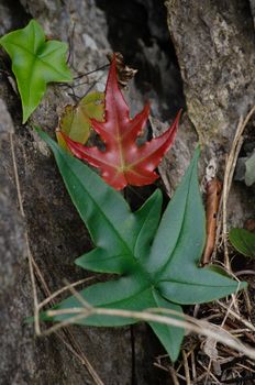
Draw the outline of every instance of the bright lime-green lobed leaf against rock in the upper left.
M2 36L0 45L12 59L25 123L42 100L47 82L71 80L66 65L68 45L54 40L45 42L44 31L35 20Z

